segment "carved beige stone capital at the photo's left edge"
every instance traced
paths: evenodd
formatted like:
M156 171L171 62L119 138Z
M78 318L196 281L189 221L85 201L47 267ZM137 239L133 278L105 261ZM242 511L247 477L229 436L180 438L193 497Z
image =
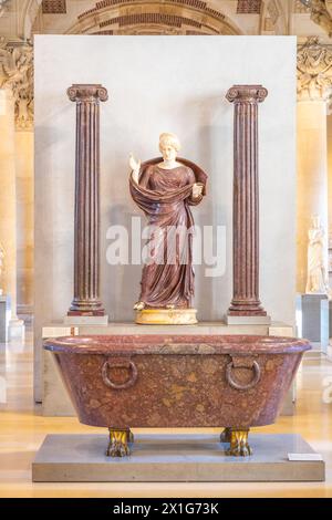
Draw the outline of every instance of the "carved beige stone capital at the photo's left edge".
M15 126L33 127L33 48L30 43L0 45L0 87L10 89L15 102Z

